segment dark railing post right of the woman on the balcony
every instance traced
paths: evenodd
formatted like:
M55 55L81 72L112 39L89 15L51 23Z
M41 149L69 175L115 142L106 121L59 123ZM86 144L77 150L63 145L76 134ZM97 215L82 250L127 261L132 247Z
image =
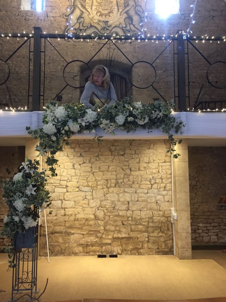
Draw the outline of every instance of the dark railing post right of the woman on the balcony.
M177 36L177 88L178 88L178 109L186 111L186 78L185 78L185 52L183 34Z

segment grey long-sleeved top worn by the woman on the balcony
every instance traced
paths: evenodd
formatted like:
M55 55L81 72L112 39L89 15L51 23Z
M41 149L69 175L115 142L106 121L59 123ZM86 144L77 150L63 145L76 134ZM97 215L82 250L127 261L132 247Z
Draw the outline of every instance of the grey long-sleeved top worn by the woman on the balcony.
M96 95L97 97L96 97ZM110 98L110 102L109 102ZM85 85L85 89L83 94L80 98L80 103L85 104L87 107L93 107L95 104L113 104L114 101L117 99L115 94L115 89L112 83L110 82L110 86L108 89L102 89L101 87L97 86L96 84L87 82Z

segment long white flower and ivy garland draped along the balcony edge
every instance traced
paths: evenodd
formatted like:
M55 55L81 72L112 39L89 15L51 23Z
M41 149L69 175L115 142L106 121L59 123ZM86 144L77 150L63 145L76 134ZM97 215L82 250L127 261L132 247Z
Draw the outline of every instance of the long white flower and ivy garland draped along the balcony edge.
M173 101L164 104L161 101L149 103L148 105L137 103L133 98L124 98L115 101L115 104L103 108L95 105L92 109L83 104L64 104L58 107L58 103L50 101L46 106L46 112L43 116L42 128L31 130L26 127L28 133L35 139L39 139L39 145L36 150L39 155L45 155L46 164L52 176L56 176L55 165L58 160L54 155L58 151L63 151L63 143L69 144L67 141L76 133L96 133L96 127L103 129L105 133L115 135L116 128L129 132L135 132L136 129L161 129L163 133L168 134L171 146L167 152L174 153L174 158L178 154L175 150L177 141L170 133L172 129L175 133L182 134L181 128L185 125L182 121L177 121L172 113L174 107ZM101 137L97 134L95 137L101 142ZM178 141L180 144L182 139Z

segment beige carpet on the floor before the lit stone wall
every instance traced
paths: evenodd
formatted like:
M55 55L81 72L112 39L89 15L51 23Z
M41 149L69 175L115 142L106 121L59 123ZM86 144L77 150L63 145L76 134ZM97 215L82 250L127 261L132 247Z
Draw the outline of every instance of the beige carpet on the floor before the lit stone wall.
M0 289L6 293L0 294L0 301L6 302L11 296L12 272L6 271L7 258L3 256L0 254ZM47 278L49 284L40 301L226 297L226 269L221 265L213 260L178 260L171 255L51 257L50 263L43 257L38 262L40 291Z

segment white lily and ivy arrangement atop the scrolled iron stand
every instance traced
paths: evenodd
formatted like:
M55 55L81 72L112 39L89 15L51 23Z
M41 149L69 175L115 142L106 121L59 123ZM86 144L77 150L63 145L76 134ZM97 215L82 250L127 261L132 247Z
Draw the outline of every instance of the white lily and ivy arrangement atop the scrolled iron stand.
M46 171L39 172L38 169L39 161L35 159L32 163L27 159L26 162L22 162L11 180L2 181L3 198L9 210L4 218L0 236L6 236L11 241L5 248L10 259L15 252L15 233L24 233L28 228L36 226L39 219L37 210L49 207L51 204L49 192L45 189ZM14 258L9 260L9 267L15 266Z

